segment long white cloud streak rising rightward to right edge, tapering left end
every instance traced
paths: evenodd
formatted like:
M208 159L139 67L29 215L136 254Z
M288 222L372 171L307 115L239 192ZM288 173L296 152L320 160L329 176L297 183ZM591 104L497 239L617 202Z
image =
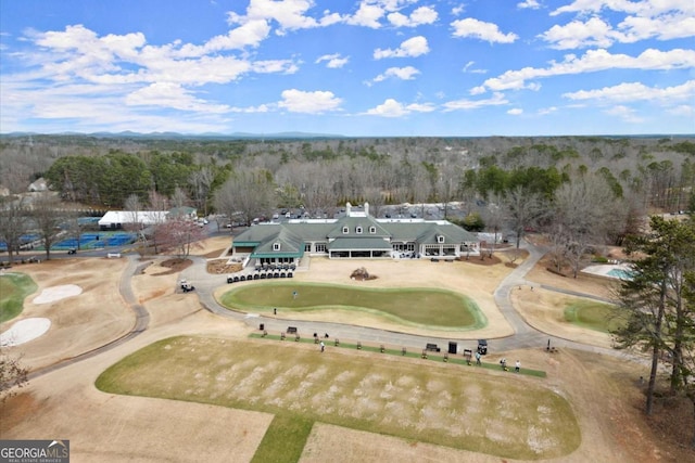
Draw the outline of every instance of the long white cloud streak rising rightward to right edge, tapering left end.
M491 90L518 90L532 88L527 80L561 75L595 73L606 69L673 69L695 66L695 50L674 49L660 51L647 49L637 56L611 54L606 50L589 50L583 56L573 54L565 56L565 61L553 62L545 68L525 67L519 70L507 70L498 77L484 81Z

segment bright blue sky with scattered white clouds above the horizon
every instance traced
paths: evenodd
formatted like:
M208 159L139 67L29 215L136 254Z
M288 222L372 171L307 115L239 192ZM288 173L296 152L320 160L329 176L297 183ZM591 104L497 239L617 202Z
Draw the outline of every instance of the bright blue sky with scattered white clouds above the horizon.
M695 133L693 0L0 2L0 132Z

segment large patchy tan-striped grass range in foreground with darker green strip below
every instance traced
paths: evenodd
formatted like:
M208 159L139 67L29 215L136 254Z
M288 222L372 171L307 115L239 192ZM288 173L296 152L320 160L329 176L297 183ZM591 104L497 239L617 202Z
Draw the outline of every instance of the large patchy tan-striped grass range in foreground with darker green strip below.
M569 402L541 378L334 347L320 353L289 340L163 339L109 368L97 387L273 413L258 462L298 461L314 422L502 459L557 459L581 441ZM292 456L276 460L287 449Z

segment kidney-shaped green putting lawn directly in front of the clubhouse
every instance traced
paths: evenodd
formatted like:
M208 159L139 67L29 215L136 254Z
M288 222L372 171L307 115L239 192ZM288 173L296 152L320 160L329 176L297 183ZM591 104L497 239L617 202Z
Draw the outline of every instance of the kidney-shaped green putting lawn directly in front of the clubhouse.
M296 297L293 293L296 292ZM225 293L220 304L240 311L283 312L332 310L369 312L400 324L478 330L486 324L471 298L445 290L355 288L333 284L268 282L237 287Z

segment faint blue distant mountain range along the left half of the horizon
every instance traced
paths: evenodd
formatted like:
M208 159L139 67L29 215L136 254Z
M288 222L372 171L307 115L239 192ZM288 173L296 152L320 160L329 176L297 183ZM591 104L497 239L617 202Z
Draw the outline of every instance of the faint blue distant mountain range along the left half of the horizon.
M80 133L80 132L60 132L60 133L37 133L37 132L10 132L0 133L0 138L16 138L16 137L93 137L93 138L141 138L141 139L216 139L216 140L235 140L235 139L269 139L269 140L282 140L282 139L337 139L344 138L344 136L333 133L309 133L309 132L277 132L277 133L248 133L248 132L233 132L233 133L179 133L179 132L150 132L140 133L130 130L123 132L93 132L93 133Z

